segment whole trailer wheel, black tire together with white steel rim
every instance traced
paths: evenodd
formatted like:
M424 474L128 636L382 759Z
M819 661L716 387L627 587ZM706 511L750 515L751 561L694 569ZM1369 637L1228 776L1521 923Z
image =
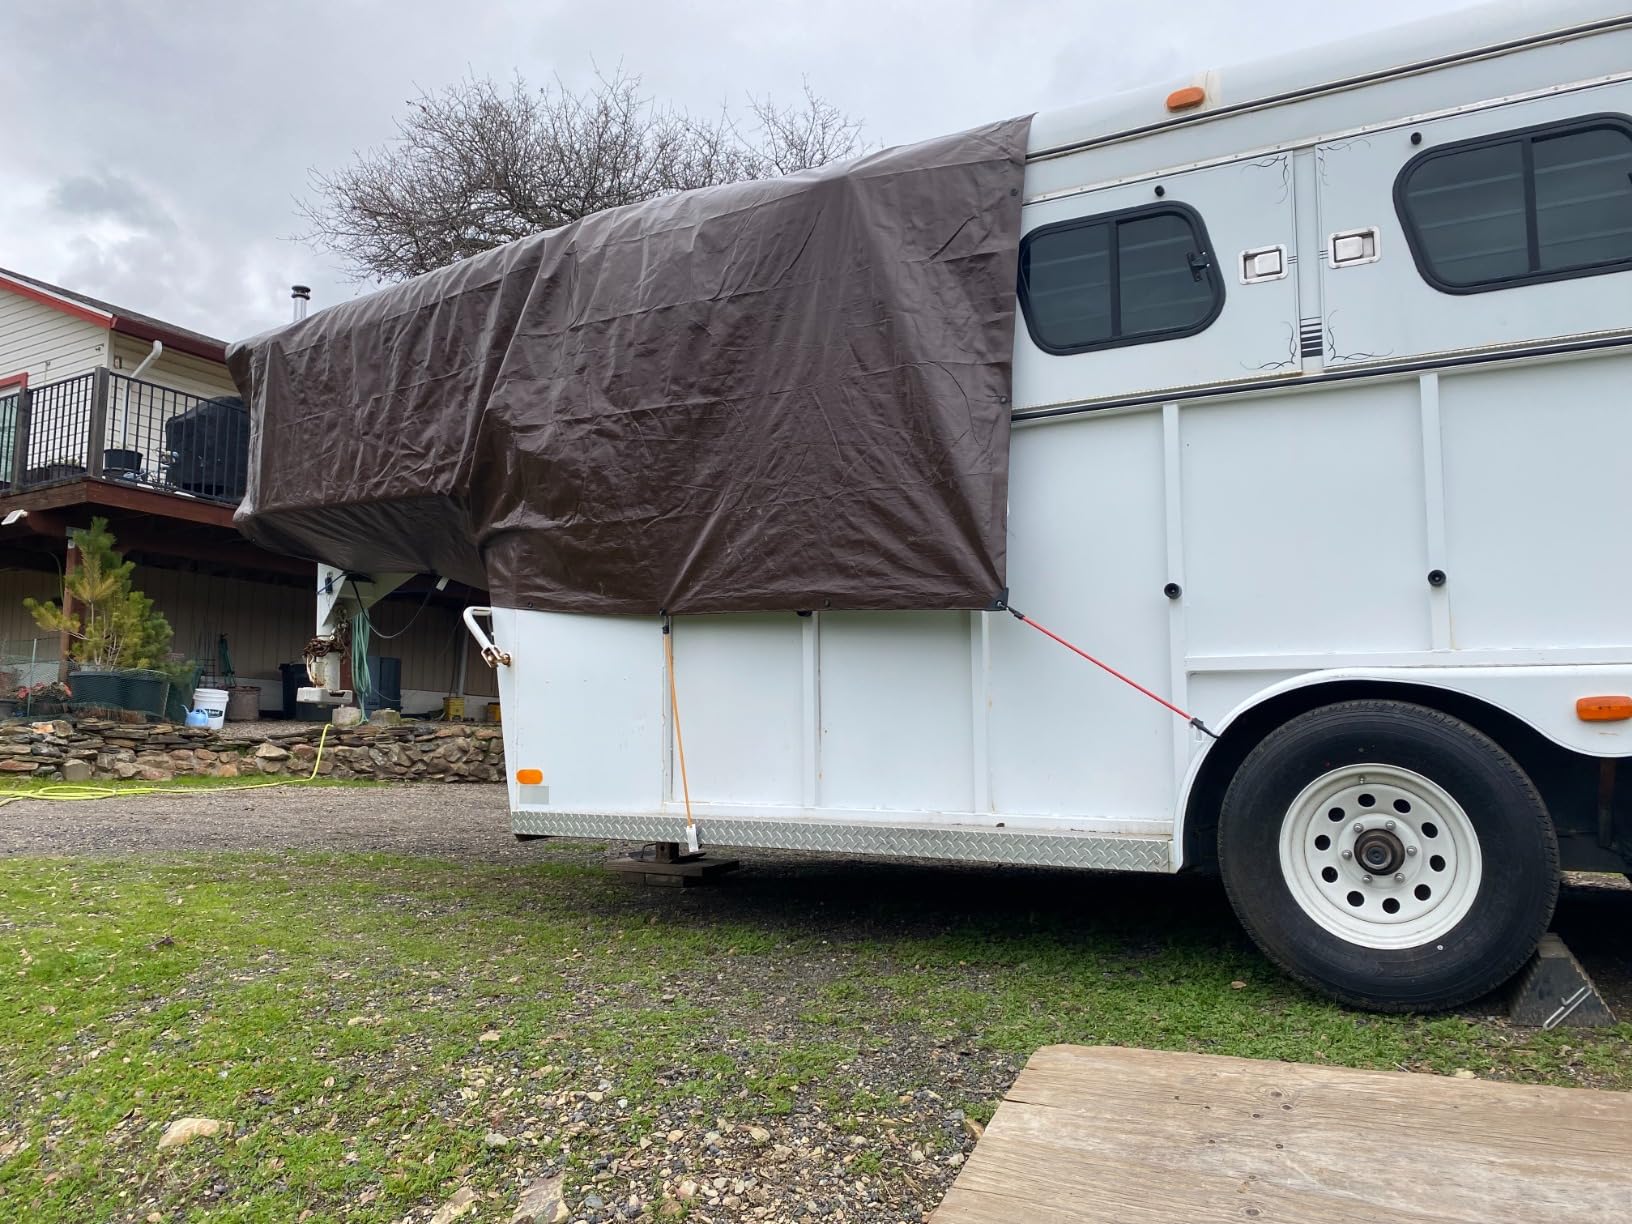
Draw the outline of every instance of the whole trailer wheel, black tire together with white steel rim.
M1265 955L1346 1004L1457 1007L1511 978L1559 896L1559 842L1488 736L1407 702L1328 705L1242 762L1219 870Z

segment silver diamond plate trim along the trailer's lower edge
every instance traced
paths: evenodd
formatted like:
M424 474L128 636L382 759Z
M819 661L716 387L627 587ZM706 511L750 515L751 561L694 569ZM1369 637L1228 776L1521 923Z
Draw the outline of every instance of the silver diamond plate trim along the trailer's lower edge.
M516 811L511 829L545 837L605 837L630 842L684 842L679 816L596 811ZM958 858L1030 867L1084 867L1097 871L1170 871L1170 839L1035 829L960 826L816 824L707 816L697 821L705 845L767 850L823 850L886 858Z

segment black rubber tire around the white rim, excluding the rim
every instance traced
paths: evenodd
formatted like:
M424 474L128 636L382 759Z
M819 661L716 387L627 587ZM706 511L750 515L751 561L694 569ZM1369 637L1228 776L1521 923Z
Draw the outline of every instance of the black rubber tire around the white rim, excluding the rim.
M1315 778L1358 764L1431 780L1479 840L1470 909L1418 947L1373 948L1333 934L1304 911L1281 868L1293 801ZM1524 770L1467 723L1407 702L1343 702L1273 731L1231 782L1217 849L1231 904L1265 955L1306 986L1377 1012L1444 1010L1501 986L1536 950L1559 896L1559 840Z

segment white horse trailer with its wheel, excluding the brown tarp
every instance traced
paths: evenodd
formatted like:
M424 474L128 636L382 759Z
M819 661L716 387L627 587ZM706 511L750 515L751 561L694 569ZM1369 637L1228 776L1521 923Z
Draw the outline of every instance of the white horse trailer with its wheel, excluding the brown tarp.
M1632 860L1629 65L1510 3L1035 119L1012 599L1206 730L1000 609L473 609L516 834L1216 863L1340 999L1505 981Z

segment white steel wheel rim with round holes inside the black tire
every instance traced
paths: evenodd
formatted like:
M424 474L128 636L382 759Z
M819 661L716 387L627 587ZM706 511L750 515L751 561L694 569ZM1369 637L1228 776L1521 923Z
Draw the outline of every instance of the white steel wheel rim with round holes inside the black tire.
M1299 907L1366 948L1446 935L1479 896L1483 857L1462 805L1399 765L1345 765L1293 800L1281 876Z

